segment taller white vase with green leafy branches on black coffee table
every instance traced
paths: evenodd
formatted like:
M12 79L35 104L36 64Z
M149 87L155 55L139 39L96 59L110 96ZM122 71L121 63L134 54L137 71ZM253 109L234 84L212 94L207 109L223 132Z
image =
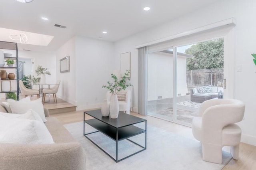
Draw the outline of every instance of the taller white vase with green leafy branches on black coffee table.
M118 81L118 78L116 77L116 75L111 74L111 78L114 80L114 82L110 83L110 81L108 81L107 82L108 85L102 86L108 89L110 93L112 93L110 98L110 105L109 105L110 118L112 119L116 119L119 113L117 93L121 90L125 90L129 86L132 86L130 83L126 85L126 79L130 80L130 77L128 77L129 73L130 71L126 70L126 73L124 73L124 76L121 77L120 81Z

